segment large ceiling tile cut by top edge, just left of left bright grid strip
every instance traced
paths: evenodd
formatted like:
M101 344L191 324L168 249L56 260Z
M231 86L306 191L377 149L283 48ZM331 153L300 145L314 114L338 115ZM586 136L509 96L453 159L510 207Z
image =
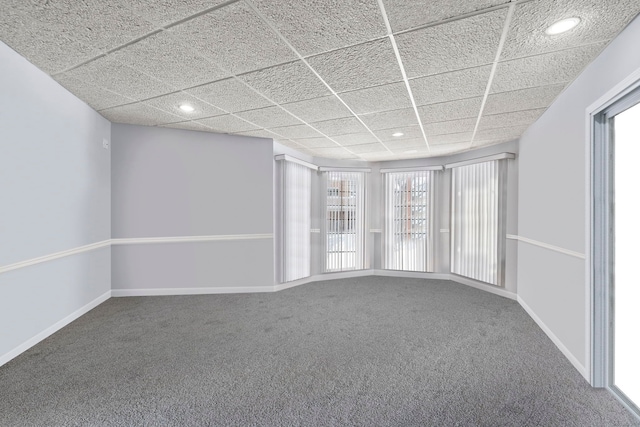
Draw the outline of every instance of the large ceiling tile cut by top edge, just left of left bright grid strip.
M303 56L386 34L376 0L253 0Z

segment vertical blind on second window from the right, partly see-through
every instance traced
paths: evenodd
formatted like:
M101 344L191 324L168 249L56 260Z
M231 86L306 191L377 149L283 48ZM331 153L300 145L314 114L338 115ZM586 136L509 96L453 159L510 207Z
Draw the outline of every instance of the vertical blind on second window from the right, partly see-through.
M385 174L384 268L433 271L433 171Z

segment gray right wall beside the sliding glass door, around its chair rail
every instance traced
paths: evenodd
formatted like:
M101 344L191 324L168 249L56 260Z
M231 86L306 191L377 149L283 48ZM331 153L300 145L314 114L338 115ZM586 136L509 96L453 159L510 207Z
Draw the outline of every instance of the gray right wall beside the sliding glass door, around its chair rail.
M586 108L640 68L635 19L520 140L521 236L579 253L585 247ZM588 361L585 263L519 243L518 294L567 350Z

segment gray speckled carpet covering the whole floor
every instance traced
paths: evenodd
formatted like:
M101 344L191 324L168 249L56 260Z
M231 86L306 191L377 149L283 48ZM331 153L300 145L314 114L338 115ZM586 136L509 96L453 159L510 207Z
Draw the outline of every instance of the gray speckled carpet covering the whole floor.
M513 301L364 277L112 298L0 367L1 426L638 426Z

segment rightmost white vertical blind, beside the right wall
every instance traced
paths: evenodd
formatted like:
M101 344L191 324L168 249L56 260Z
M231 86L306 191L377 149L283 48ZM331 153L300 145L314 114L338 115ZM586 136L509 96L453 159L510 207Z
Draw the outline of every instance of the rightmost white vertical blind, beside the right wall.
M502 286L505 160L452 169L451 272Z

